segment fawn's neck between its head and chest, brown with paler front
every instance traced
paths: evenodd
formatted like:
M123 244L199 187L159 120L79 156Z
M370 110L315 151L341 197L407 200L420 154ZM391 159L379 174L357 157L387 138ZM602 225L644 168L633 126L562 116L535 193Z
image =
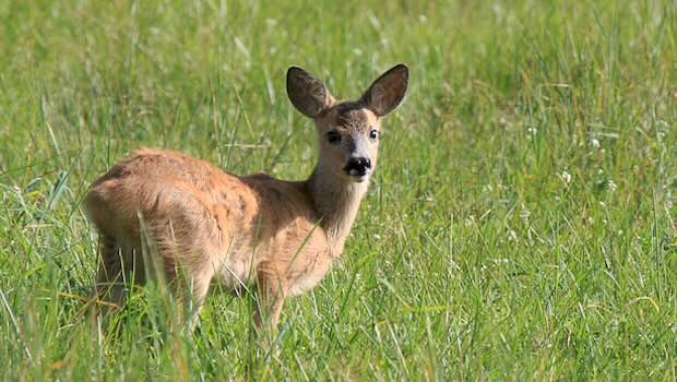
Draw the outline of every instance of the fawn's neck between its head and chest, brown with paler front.
M333 256L343 252L343 246L357 216L357 210L367 192L368 181L346 181L335 170L321 163L308 179L308 190L318 212L320 227L330 241Z

